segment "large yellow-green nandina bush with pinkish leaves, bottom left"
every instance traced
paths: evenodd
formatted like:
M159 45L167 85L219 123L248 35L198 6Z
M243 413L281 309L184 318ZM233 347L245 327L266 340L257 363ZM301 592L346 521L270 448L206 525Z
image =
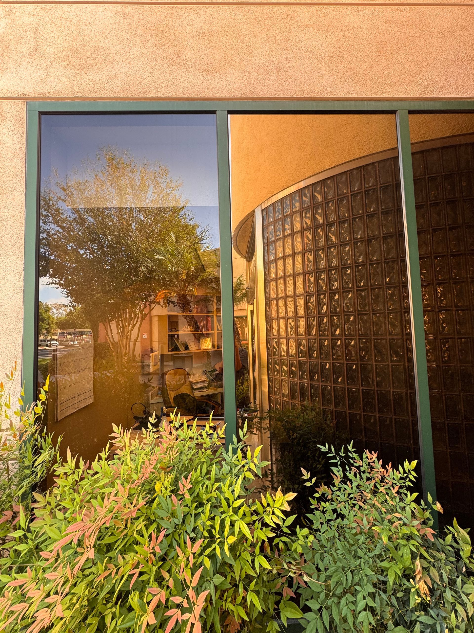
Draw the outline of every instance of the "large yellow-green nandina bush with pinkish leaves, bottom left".
M233 633L300 616L280 573L293 495L253 498L258 449L222 439L178 418L142 441L115 429L91 465L68 454L10 534L0 630Z

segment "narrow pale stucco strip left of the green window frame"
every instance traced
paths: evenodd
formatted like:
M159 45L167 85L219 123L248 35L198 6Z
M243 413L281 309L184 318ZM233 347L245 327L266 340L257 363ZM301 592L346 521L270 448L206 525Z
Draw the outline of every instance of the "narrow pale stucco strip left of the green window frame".
M21 360L25 103L0 101L0 375ZM18 364L20 367L20 362ZM20 375L16 380L20 387Z

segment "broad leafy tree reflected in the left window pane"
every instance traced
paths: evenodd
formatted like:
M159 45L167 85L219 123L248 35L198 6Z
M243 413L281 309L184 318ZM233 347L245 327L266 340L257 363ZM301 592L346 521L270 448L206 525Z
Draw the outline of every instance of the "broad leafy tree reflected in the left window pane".
M64 179L56 174L42 190L40 275L82 306L93 329L109 325L119 364L134 356L141 323L169 287L152 253L171 233L174 241L203 248L205 231L186 213L181 185L159 162L104 147L81 171Z

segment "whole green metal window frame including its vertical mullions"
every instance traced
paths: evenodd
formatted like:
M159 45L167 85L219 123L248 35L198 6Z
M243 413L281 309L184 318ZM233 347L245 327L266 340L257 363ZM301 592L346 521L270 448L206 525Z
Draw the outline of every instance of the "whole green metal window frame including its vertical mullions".
M423 496L436 499L434 454L425 353L422 287L416 232L415 192L411 165L409 113L474 111L474 101L29 101L27 103L27 163L25 199L25 268L23 285L22 379L27 402L35 399L37 260L39 242L39 149L42 114L86 113L207 113L217 119L217 172L219 179L219 234L221 243L222 354L226 443L237 434L235 379L232 230L229 171L228 115L232 114L394 114L396 115L400 183L410 318L413 337L415 391Z

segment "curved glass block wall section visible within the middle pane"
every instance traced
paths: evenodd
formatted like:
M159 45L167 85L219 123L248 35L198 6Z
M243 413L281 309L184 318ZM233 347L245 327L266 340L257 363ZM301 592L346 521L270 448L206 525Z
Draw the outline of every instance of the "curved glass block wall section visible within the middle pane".
M418 458L398 161L262 210L270 409L309 400L359 450Z

